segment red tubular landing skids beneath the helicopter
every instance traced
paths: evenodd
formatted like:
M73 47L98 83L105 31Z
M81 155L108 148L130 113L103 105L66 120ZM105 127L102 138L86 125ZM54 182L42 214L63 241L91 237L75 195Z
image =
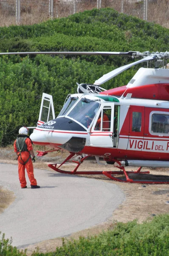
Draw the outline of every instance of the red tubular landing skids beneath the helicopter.
M158 181L158 180L133 180L128 176L128 174L143 175L143 174L149 174L149 171L141 172L142 167L139 167L138 170L135 172L126 171L124 169L124 166L122 166L121 163L116 159L113 159L113 161L115 161L118 164L117 168L120 169L121 171L79 171L78 172L77 169L79 168L81 163L83 163L84 160L86 160L88 157L91 157L91 156L87 155L85 157L82 157L79 161L73 160L74 156L75 156L75 153L72 153L61 164L50 163L50 164L48 164L48 166L56 172L71 174L71 175L105 175L108 178L110 178L111 180L115 180L115 181L119 181L119 182L142 183L142 184L152 184L152 183L153 184L169 184L169 181L167 181L167 180L161 180L161 181ZM77 164L77 166L73 169L73 171L65 171L65 170L60 169L60 167L62 165L64 165L65 163L67 163L68 161L71 161L72 163ZM58 165L58 167L57 167L57 165ZM125 179L121 179L119 177L114 177L114 175L125 175Z

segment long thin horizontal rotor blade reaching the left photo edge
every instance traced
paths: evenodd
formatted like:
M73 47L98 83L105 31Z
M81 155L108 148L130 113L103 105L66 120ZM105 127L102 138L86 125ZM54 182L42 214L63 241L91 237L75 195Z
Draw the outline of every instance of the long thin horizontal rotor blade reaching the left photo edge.
M129 55L136 52L0 52L0 55L28 55L28 54L51 54L51 55Z

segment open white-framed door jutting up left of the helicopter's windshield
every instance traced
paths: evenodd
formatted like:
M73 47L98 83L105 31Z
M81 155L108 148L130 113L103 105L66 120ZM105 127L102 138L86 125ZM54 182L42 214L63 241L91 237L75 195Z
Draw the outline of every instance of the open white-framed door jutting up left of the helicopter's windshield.
M37 125L42 125L52 119L55 119L53 98L51 95L43 93Z

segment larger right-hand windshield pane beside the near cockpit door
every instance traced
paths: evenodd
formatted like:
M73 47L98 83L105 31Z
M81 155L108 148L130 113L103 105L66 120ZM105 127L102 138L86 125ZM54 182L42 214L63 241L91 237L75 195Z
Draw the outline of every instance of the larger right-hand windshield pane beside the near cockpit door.
M68 114L69 117L88 128L99 108L99 100L82 98Z

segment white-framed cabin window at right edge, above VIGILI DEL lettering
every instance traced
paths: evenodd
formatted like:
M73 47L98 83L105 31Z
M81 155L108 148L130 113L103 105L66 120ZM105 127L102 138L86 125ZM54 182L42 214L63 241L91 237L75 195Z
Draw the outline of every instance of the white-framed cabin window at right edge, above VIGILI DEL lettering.
M169 115L153 113L151 131L153 133L169 134Z

